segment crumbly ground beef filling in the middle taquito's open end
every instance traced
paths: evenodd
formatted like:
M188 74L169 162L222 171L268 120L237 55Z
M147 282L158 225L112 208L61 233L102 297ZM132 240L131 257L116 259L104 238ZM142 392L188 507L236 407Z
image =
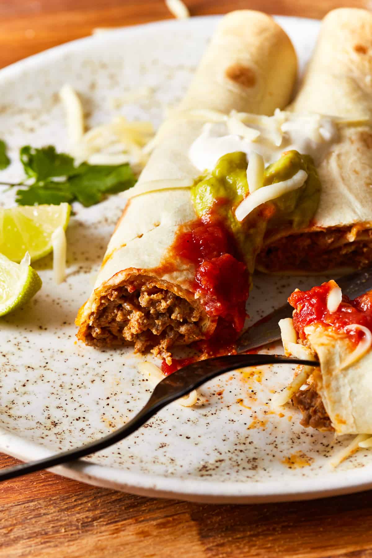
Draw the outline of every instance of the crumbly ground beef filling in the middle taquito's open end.
M122 286L100 300L90 316L86 343L95 347L134 344L137 353L151 349L156 356L170 359L173 344L203 339L201 310L185 299L151 283L129 292Z

